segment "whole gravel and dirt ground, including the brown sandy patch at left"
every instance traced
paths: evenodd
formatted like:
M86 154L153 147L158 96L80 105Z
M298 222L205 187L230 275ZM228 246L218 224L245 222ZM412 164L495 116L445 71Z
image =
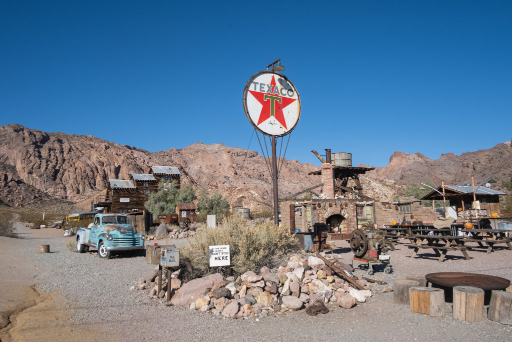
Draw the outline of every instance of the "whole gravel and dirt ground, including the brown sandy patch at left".
M444 317L411 313L381 293L365 304L310 317L304 311L289 316L225 320L188 308L166 307L142 292L130 290L153 266L143 257L109 260L70 252L74 239L61 230L30 230L17 224L21 238L0 237L0 307L2 341L8 340L510 340L512 327L493 321L466 324ZM37 254L49 244L52 253ZM338 251L351 254L345 242ZM486 254L470 251L471 260L457 255L438 263L434 255L411 259L402 245L391 252L394 272L372 278L388 281L410 273L467 271L512 279L512 251L497 248ZM355 265L354 265L355 266ZM366 272L355 271L366 276Z

